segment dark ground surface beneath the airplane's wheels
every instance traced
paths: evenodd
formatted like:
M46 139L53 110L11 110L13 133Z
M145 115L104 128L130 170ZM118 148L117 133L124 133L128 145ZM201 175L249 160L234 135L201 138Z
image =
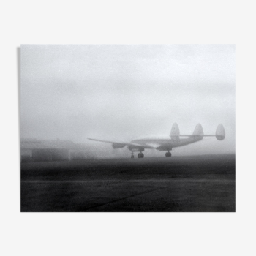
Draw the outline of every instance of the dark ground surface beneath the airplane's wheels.
M235 155L21 164L21 211L235 211Z

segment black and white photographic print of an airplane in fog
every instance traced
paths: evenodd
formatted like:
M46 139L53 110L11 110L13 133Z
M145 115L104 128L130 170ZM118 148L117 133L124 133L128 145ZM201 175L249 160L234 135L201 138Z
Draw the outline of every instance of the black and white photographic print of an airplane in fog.
M235 212L236 45L20 46L21 212Z

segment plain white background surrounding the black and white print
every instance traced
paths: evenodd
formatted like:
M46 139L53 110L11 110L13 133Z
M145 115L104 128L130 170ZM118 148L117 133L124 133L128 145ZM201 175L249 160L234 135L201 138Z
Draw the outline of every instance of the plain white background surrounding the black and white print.
M1 255L255 255L252 1L1 4ZM22 43L236 43L236 213L20 213Z

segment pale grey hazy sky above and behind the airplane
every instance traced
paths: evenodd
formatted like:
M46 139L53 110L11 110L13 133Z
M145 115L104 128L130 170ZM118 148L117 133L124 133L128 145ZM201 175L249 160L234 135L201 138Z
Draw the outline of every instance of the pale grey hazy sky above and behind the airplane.
M235 45L22 45L21 138L129 140L170 135L174 122L184 134L197 123L214 134L222 123L222 143L211 138L187 150L235 152L235 52Z

